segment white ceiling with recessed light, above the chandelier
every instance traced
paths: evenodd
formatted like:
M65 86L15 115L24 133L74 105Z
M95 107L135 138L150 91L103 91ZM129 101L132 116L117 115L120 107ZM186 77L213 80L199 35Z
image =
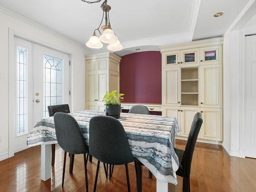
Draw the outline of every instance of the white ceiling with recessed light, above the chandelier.
M120 53L123 55L133 51L131 48L139 46L155 49L156 46L192 39L222 36L248 1L109 0L108 4L112 7L112 28L125 48ZM80 0L0 0L0 6L80 45L85 45L98 27L102 16L100 5L101 3L89 5ZM224 12L224 15L213 17L217 12ZM142 50L148 48L142 47Z

